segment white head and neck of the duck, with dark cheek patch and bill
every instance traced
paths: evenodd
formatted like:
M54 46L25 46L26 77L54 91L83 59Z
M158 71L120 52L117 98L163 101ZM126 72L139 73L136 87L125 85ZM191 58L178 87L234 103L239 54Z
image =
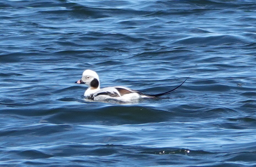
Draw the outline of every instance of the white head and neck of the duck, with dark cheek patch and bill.
M82 79L76 81L78 84L88 85L88 89L98 89L100 88L99 76L96 72L92 70L85 70L82 75Z

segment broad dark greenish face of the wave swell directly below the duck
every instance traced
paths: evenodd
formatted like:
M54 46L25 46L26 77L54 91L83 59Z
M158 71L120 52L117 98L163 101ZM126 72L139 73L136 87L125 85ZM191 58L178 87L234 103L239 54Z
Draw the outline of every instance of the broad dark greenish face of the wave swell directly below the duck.
M83 107L51 109L49 112L55 114L45 120L54 124L145 124L167 121L171 114L143 106L115 105L96 109L88 109L86 105Z

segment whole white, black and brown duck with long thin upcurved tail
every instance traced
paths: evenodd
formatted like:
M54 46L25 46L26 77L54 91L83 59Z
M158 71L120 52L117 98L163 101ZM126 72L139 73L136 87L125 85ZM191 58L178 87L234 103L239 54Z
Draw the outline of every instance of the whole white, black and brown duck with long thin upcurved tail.
M179 85L178 87L176 87L171 91L155 94L155 95L146 95L140 91L132 90L124 86L113 86L113 87L105 87L100 89L99 76L97 75L96 72L92 70L85 70L83 72L81 80L78 80L75 83L88 85L88 88L86 89L84 94L86 98L96 100L96 101L103 101L106 99L115 99L115 100L124 101L124 102L137 100L140 98L154 98L154 97L162 96L165 94L169 94L183 84L182 83L181 85Z

